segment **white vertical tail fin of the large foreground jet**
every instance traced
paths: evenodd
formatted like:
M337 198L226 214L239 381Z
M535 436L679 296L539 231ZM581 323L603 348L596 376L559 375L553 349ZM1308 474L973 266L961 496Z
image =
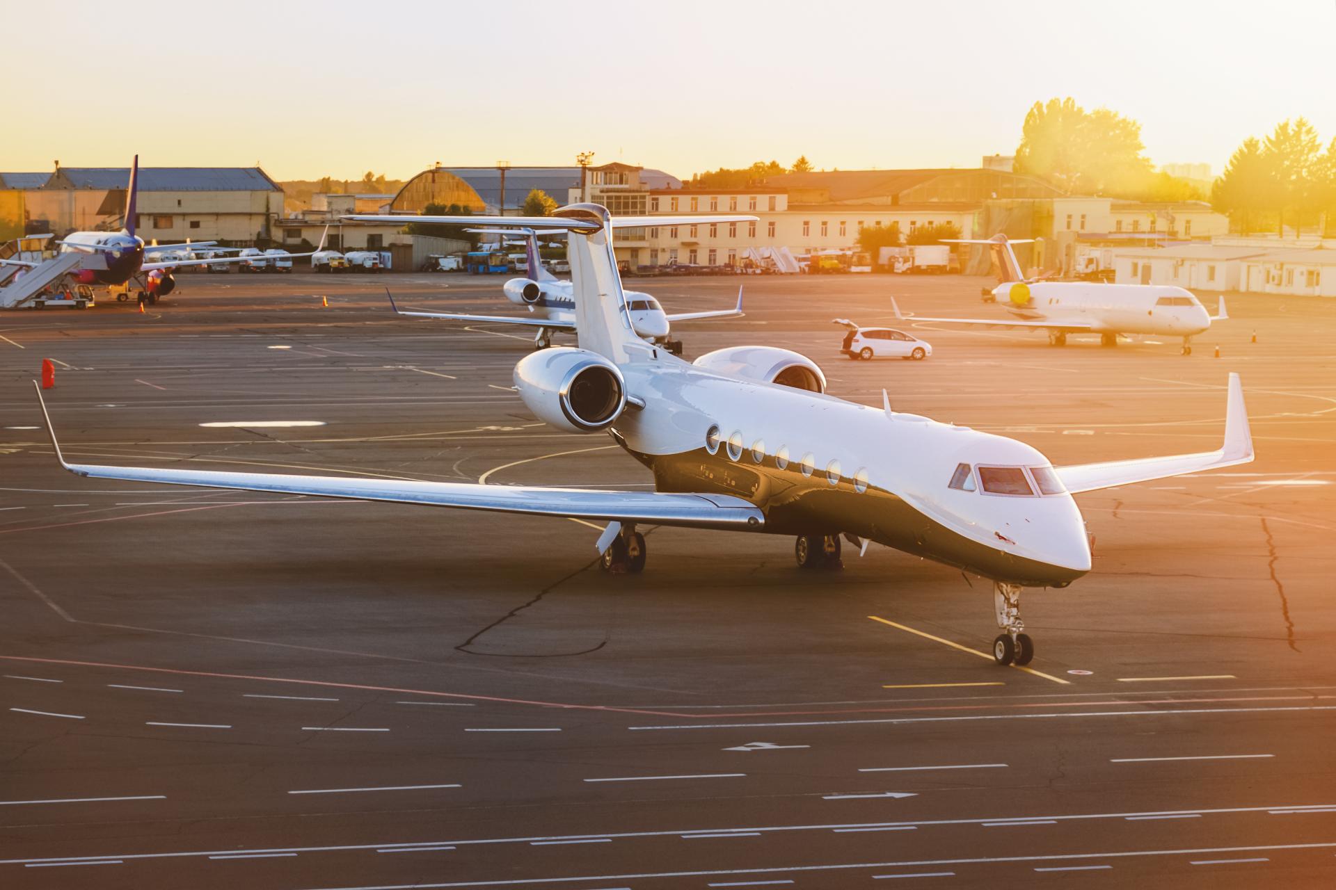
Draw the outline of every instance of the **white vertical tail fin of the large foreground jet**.
M617 274L617 258L612 248L611 215L600 204L570 204L553 216L599 224L597 230L573 230L566 235L576 331L580 348L623 364L629 360L625 347L644 342L636 336L621 291L621 275Z

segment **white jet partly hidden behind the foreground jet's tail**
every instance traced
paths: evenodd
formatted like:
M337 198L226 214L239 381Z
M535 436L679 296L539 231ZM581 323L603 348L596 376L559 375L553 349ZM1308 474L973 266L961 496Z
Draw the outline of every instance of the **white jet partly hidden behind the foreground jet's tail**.
M345 216L343 219L354 220L370 220L370 221L432 221L436 216ZM506 220L518 219L514 216L506 216ZM655 217L661 220L664 217ZM721 216L692 216L691 224L700 223L713 223L724 219ZM737 219L736 216L729 216L727 219ZM656 221L656 226L664 226L671 223ZM685 223L683 223L685 224ZM620 223L615 223L619 228ZM516 230L493 230L493 228L474 228L469 230L481 234L497 234L505 231L512 234ZM528 263L528 278L513 278L501 286L501 291L505 294L506 299L518 306L525 306L529 308L528 316L514 316L514 315L460 315L456 312L418 312L418 311L403 311L398 306L394 306L394 298L390 298L390 306L394 306L394 311L399 315L414 315L426 319L446 319L450 322L484 322L484 323L500 323L500 324L524 324L528 327L538 328L538 332L533 338L533 346L537 350L544 350L552 346L552 335L557 331L570 331L576 330L576 300L573 295L573 286L570 282L562 282L556 275L542 268L542 260L538 256L538 234L533 228L520 227L518 231L525 236L525 255ZM643 294L640 291L627 291L627 310L631 316L631 324L635 327L636 334L651 343L661 344L665 350L673 355L681 355L681 342L671 339L673 322L692 322L697 319L736 319L743 316L743 288L737 288L737 306L731 310L712 310L708 312L664 312L664 307L659 304L659 300Z

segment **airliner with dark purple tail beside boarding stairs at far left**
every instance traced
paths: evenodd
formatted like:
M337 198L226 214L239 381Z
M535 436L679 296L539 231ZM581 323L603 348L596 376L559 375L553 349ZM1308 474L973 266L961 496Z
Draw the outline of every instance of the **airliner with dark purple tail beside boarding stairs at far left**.
M184 250L214 244L214 242L199 242L195 244L155 244L144 246L144 240L135 235L135 216L139 204L139 155L130 167L130 187L126 201L126 224L119 232L71 232L60 242L61 254L86 254L87 260L69 272L68 278L75 284L126 284L131 279L144 276L148 300L156 303L159 296L167 296L176 287L176 279L168 270L183 266L216 266L219 263L240 263L248 258L243 256L215 256L211 259L190 260L152 260L154 254L163 251ZM291 254L291 256L311 256L317 251L325 250L325 235L321 235L321 244L310 254ZM147 262L146 262L147 259ZM49 262L49 260L48 260ZM27 266L29 268L40 263L19 260L0 260L7 266Z

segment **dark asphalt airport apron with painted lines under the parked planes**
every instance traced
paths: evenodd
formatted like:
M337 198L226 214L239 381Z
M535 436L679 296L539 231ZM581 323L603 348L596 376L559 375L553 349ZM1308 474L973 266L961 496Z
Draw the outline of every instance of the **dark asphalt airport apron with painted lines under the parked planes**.
M986 582L884 548L807 574L787 538L661 528L607 575L570 520L63 472L43 358L77 462L649 482L525 411L528 338L379 292L516 311L500 279L180 282L0 315L0 886L1336 882L1336 304L1232 296L1190 358L930 326L926 362L836 355L830 319L894 323L892 292L999 312L962 278L754 278L745 319L680 326L1055 464L1209 450L1242 374L1257 462L1081 495L1094 570L1026 591L1023 671L985 655Z

